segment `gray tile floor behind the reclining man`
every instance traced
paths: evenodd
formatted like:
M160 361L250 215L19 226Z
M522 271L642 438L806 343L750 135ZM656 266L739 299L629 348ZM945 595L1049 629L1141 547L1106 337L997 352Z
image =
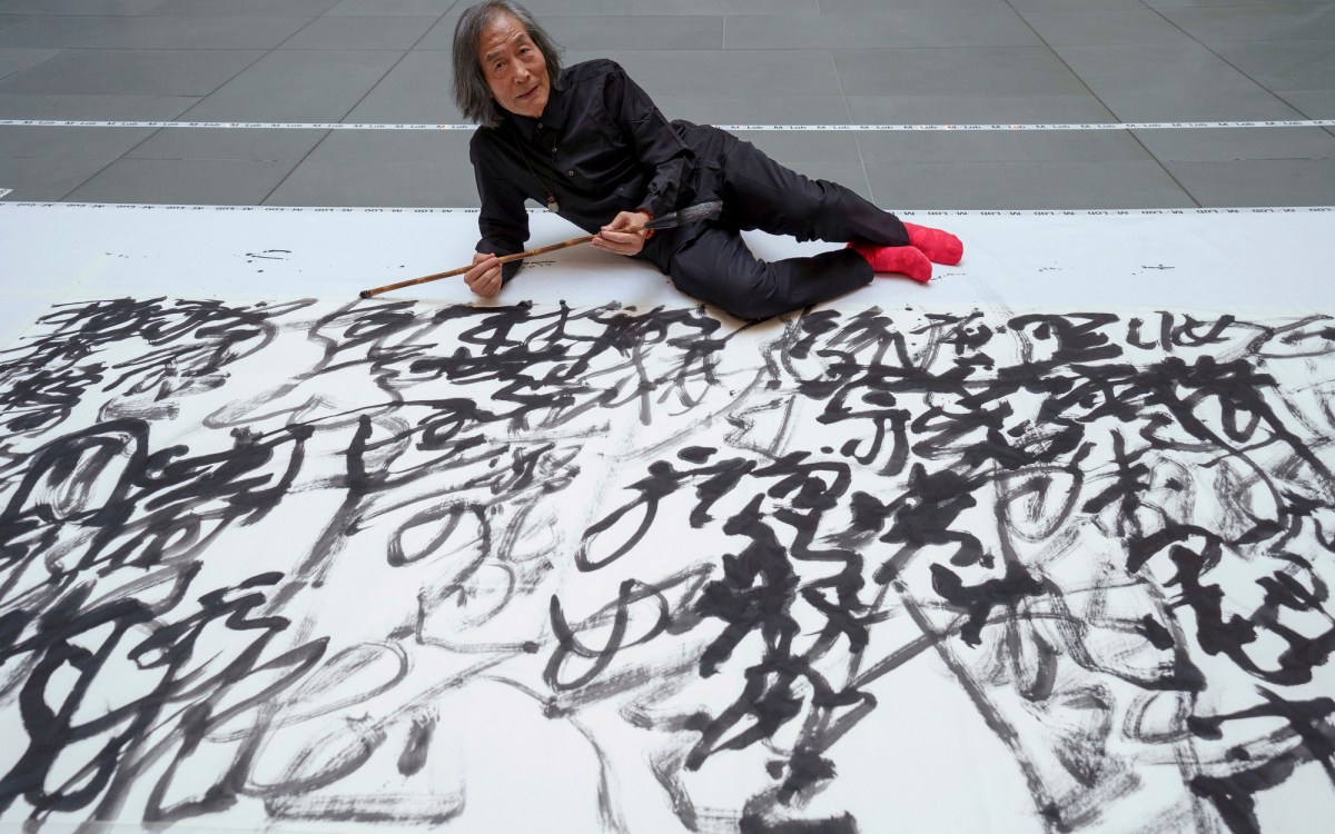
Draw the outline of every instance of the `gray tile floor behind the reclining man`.
M0 0L0 120L462 121L469 0ZM531 0L670 117L1335 117L1335 3ZM475 205L466 132L0 125L5 200ZM746 132L886 208L1335 204L1335 129Z

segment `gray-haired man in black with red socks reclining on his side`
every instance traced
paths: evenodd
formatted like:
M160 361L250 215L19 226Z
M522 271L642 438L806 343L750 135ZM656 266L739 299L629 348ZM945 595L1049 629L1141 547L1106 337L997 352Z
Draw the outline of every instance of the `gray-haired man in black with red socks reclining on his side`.
M465 280L493 298L519 268L531 197L597 234L593 246L647 260L680 290L742 319L764 319L869 284L873 272L932 278L956 264L960 240L902 223L853 191L789 171L709 125L668 121L614 61L561 67L561 51L523 7L506 0L463 12L454 31L454 96L478 123L470 157L482 239ZM623 231L704 200L717 220ZM741 231L848 243L766 263Z

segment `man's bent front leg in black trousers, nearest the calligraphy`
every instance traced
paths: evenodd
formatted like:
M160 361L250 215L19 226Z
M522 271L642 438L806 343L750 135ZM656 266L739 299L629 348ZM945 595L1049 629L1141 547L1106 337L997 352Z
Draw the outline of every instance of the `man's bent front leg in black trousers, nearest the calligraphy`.
M746 248L740 234L717 227L702 230L678 250L668 275L678 290L740 319L768 319L816 304L873 278L870 264L853 250L766 263Z

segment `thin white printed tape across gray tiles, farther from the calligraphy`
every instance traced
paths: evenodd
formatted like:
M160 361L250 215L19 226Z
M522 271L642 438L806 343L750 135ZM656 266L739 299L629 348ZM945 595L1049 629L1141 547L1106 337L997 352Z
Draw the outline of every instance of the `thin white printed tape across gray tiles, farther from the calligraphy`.
M366 124L322 121L60 121L0 119L0 127L124 127L263 131L473 131L474 124ZM1108 121L1081 124L720 124L725 131L777 132L989 132L989 131L1165 131L1264 127L1335 127L1335 119L1288 121Z

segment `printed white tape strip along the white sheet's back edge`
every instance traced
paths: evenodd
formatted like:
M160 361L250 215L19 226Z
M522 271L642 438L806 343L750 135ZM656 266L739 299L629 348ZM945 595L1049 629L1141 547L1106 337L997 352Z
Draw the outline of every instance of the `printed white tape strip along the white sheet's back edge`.
M363 214L363 215L475 215L477 208L378 208L323 205L168 205L164 203L0 203L0 211L19 208L93 208L132 211L228 212L228 214ZM1335 214L1335 205L1255 205L1246 208L1029 208L1029 210L898 210L901 218L1088 218L1088 216L1153 216L1153 215L1311 215ZM529 214L547 214L530 208Z

